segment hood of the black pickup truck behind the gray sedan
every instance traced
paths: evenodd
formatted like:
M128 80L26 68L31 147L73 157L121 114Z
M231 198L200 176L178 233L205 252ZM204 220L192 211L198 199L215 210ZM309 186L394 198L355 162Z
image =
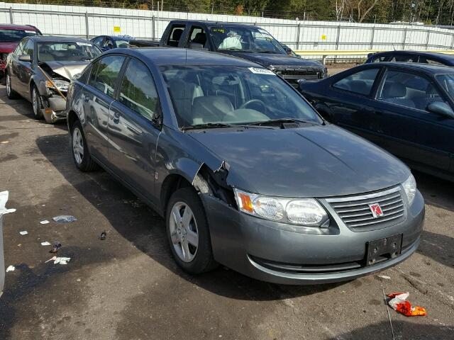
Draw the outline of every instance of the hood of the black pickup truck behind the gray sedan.
M223 51L225 52L225 51ZM243 59L250 60L251 62L257 62L265 67L315 67L317 69L323 69L323 65L319 62L312 60L301 59L298 57L291 57L289 55L280 55L277 53L250 53L250 52L238 52L231 51L225 52L228 55L233 55Z

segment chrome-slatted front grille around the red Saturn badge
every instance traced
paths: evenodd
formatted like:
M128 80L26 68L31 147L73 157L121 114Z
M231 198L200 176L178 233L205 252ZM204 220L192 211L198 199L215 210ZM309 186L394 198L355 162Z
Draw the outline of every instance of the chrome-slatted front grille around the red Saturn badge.
M378 193L342 198L327 198L345 225L354 232L382 229L405 220L406 209L399 187ZM370 204L378 203L383 215L374 217Z

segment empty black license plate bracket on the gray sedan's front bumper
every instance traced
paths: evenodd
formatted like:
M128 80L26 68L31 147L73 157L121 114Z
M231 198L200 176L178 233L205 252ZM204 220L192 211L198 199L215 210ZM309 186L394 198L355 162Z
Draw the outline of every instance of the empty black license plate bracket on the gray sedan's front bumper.
M366 243L366 266L393 259L400 255L402 249L402 234L396 234Z

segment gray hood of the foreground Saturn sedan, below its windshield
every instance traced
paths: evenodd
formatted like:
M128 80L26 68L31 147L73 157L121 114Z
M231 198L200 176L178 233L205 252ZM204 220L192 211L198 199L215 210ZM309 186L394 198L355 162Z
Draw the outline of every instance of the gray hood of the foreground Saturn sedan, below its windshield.
M395 186L410 175L399 159L335 125L189 135L228 163L228 185L264 195L352 195Z

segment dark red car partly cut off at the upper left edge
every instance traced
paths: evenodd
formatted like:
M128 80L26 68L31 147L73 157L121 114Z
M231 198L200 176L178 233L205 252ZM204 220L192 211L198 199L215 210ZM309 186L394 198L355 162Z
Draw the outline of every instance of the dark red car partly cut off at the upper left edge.
M4 76L6 57L13 52L18 43L29 35L43 35L31 25L0 24L0 78Z

